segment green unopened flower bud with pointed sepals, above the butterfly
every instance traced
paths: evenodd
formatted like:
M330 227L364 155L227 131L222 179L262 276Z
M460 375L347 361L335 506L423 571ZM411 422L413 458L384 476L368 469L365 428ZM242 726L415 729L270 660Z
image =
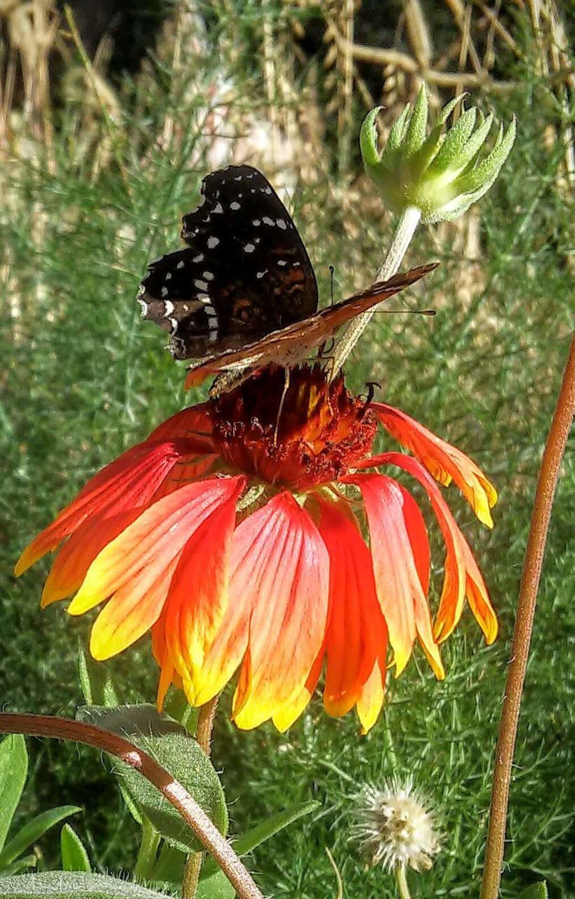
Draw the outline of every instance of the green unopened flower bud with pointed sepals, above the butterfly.
M422 222L457 218L479 200L495 181L515 140L515 117L506 131L500 126L491 152L484 152L493 114L485 118L472 107L462 111L451 129L444 126L464 94L447 103L426 136L429 102L425 85L411 109L407 103L390 131L383 150L377 147L376 116L367 113L359 133L366 172L396 214L414 206ZM463 107L463 103L462 103Z

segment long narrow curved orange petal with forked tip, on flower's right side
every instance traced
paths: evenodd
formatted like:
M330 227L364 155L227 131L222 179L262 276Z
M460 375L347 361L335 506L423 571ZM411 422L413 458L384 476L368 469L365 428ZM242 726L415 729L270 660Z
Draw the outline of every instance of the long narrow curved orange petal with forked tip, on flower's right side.
M473 615L482 628L487 643L491 644L497 636L498 624L489 592L473 558L473 553L459 530L438 485L420 462L411 456L391 452L377 458L380 460L377 464L396 465L416 477L427 491L438 518L447 547L447 558L434 628L436 639L443 642L456 628L464 608L465 596L467 596Z

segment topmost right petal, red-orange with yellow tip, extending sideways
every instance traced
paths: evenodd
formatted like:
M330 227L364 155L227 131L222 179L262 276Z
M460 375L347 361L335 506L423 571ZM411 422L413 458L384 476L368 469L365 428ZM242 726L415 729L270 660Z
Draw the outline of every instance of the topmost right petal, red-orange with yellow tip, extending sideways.
M372 403L369 409L396 441L411 449L436 480L447 486L453 478L477 518L488 528L493 527L490 508L497 503L497 491L471 458L391 405Z

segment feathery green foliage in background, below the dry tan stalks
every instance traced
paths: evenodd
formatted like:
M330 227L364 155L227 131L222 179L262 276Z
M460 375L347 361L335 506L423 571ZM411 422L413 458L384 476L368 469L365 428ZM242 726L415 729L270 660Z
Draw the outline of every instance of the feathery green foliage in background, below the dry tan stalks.
M81 701L77 647L89 627L59 606L40 615L48 564L16 583L15 558L88 476L184 401L181 369L164 352L162 335L140 322L134 297L146 263L179 243L179 218L194 205L208 170L209 139L202 133L198 85L181 107L166 86L169 71L161 73L145 111L136 103L121 126L104 122L110 161L98 174L85 158L73 159L78 130L72 112L63 111L51 163L40 148L28 161L4 166L1 175L8 277L0 321L0 684L8 709L74 713ZM288 734L270 725L239 733L226 722L229 696L223 700L214 753L234 829L308 797L322 804L314 820L297 823L255 855L262 890L276 899L336 895L327 849L345 896L395 895L392 878L367 870L350 840L358 790L393 774L413 776L437 809L444 834L432 871L412 878L414 894L478 892L529 513L572 316L572 203L558 186L562 147L549 149L541 141L545 124L555 120L553 96L543 81L526 72L521 77L512 104L499 107L509 118L512 105L519 129L508 165L481 204L481 263L453 250L453 231L438 245L437 232L434 241L421 230L408 262L436 257L441 267L396 307L432 305L438 315L432 321L380 316L348 366L351 386L361 390L375 378L387 402L456 443L492 476L500 503L491 532L473 520L454 489L448 494L490 584L500 639L487 649L466 613L445 649L447 680L434 681L416 652L390 685L385 715L366 738L358 736L352 715L325 717L320 699ZM163 151L149 132L168 113L181 139ZM324 174L328 147L325 154L314 177L296 191L295 216L323 296L327 265L335 263L339 297L367 283L391 230L362 177L349 185ZM265 158L254 161L266 170ZM467 292L466 279L472 284ZM566 777L574 735L567 660L575 628L574 458L568 454L563 464L527 672L505 899L537 877L549 880L554 896L575 891L569 835L575 797ZM437 534L434 540L438 583ZM156 670L146 640L110 667L124 699L153 698ZM93 859L102 868L131 868L135 826L97 755L48 743L33 750L22 815L78 802L85 814L75 827ZM53 843L45 851L55 860Z

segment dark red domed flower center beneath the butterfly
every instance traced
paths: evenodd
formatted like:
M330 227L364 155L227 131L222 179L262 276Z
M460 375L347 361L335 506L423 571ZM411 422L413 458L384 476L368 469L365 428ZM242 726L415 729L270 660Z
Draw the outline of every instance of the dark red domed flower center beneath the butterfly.
M270 365L213 400L210 418L230 466L303 491L344 475L376 434L365 399L349 394L342 375L328 384L320 365Z

